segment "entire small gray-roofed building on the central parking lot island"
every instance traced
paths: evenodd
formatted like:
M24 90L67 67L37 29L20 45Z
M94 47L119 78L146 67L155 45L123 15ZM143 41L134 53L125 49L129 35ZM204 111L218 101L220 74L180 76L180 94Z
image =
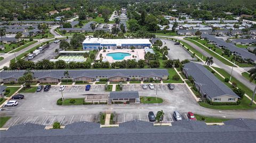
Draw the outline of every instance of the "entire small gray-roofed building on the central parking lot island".
M110 102L140 103L138 91L112 91L109 94Z

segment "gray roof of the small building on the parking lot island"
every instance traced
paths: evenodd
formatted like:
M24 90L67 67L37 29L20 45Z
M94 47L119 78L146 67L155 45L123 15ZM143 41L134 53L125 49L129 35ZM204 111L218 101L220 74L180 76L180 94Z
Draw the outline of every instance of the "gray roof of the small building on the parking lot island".
M118 98L139 98L138 91L112 91L109 94L110 99Z

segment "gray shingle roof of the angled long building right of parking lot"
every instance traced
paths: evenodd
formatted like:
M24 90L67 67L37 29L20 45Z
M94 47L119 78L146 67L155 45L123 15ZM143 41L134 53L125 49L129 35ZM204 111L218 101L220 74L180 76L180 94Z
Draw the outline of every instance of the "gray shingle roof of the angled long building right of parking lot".
M211 98L229 95L239 98L230 88L217 79L209 70L203 65L197 63L186 63L183 67L188 75L191 75L203 93Z

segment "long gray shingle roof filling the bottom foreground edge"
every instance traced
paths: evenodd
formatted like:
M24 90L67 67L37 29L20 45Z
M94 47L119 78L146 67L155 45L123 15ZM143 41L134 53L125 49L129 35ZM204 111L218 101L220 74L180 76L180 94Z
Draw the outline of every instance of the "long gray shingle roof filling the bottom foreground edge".
M0 131L0 142L255 142L256 120L230 120L225 125L206 125L183 120L172 126L154 127L153 123L133 120L117 128L99 128L99 124L79 122L65 129L45 130L43 125L26 123Z

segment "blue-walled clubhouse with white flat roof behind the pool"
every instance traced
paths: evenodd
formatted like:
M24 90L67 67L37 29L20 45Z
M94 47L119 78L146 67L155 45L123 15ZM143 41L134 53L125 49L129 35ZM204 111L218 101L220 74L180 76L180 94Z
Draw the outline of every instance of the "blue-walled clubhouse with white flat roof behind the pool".
M84 50L93 49L127 49L135 47L136 49L143 49L151 47L149 39L104 39L104 38L86 38L83 41Z

